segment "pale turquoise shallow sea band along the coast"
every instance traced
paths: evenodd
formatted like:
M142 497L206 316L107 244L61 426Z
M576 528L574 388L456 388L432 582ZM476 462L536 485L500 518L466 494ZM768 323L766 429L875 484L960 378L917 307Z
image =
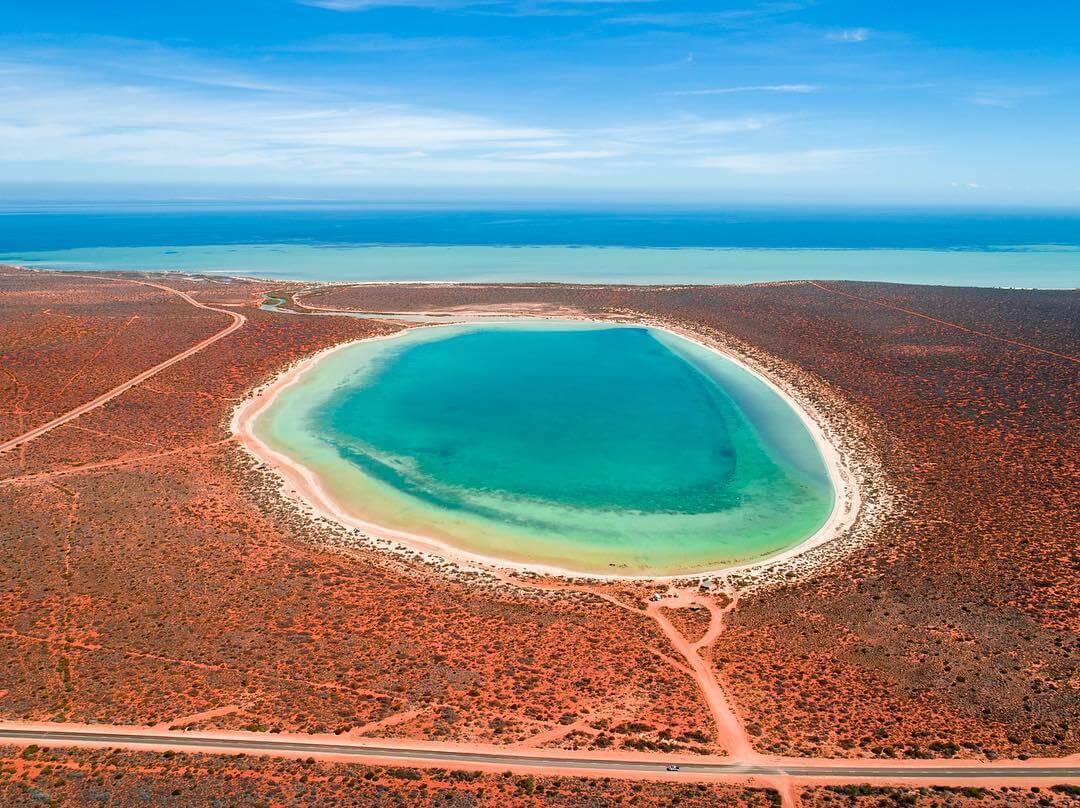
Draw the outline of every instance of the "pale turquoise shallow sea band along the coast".
M81 247L0 255L78 271L164 270L300 281L759 283L858 280L1071 288L1080 250L831 250L616 246L208 244Z

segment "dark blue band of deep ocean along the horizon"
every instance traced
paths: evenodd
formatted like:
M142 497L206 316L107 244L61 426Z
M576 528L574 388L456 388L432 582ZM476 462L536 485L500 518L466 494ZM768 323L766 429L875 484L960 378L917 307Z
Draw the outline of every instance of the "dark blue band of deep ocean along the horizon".
M0 252L198 244L994 250L1080 246L1080 212L150 210L0 214Z

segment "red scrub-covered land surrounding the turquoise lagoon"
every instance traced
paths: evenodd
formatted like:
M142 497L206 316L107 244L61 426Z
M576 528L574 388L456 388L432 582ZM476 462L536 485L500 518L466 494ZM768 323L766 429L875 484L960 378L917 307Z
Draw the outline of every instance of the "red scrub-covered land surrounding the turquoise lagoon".
M279 310L260 308L267 296ZM15 442L0 454L0 719L571 758L867 762L894 775L858 786L856 804L1066 805L1080 751L1078 307L1076 292L827 281L325 285L0 270L0 442ZM222 335L229 311L243 322ZM350 311L619 320L723 346L818 425L862 507L835 541L704 588L389 552L283 496L231 430L238 407L291 367L411 327L334 313ZM238 783L283 800L393 783L515 805L827 805L852 783L16 742L0 752L8 802L42 787L84 799L96 777L134 793L148 767L207 799ZM1062 776L977 777L1025 758L1061 762ZM970 778L923 778L946 760Z

